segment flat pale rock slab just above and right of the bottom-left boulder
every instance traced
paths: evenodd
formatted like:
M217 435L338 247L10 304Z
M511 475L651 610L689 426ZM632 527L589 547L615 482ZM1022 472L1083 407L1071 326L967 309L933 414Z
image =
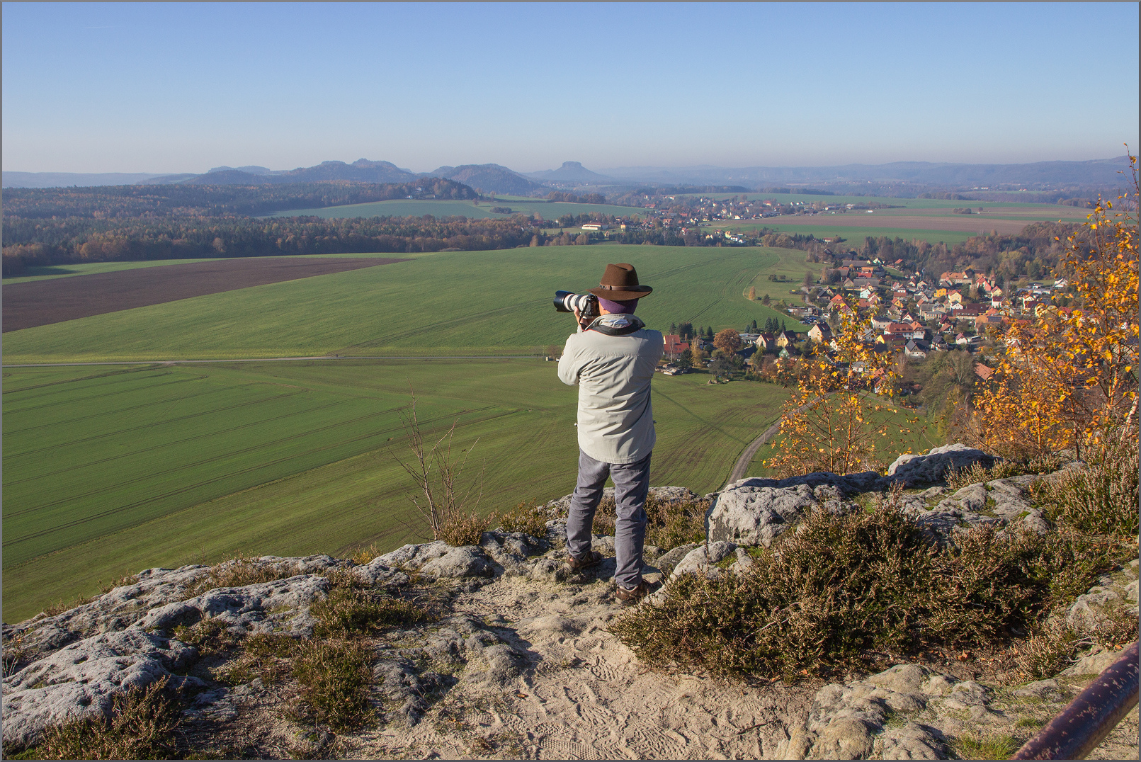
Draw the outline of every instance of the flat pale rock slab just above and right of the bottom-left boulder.
M217 587L185 601L160 606L132 630L173 630L202 619L218 619L242 634L282 632L311 637L316 621L309 605L329 592L329 579L316 575L260 582L244 587Z

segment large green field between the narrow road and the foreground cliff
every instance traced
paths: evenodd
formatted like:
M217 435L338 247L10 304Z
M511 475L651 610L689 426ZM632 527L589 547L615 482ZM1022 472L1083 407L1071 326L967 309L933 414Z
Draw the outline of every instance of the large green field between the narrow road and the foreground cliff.
M576 390L555 372L534 359L6 367L5 621L153 566L414 540L394 459L410 388L431 432L459 416L484 510L564 495ZM654 380L655 485L720 487L778 414L783 389L706 378Z

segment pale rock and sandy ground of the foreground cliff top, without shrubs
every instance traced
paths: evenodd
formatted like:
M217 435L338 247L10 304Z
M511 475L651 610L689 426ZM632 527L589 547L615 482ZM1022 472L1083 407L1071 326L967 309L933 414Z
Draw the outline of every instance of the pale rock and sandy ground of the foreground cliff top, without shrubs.
M948 452L953 463L966 457L962 449ZM906 478L937 470L917 464ZM1028 500L1036 478L955 492L941 485L921 489L925 484L916 483L919 488L904 493L903 510L934 541L953 541L956 532L984 525L1046 532ZM756 546L794 529L807 512L859 510L857 500L892 481L874 472L741 480L710 496L706 543L647 546L647 564L655 566L645 573L648 578L734 574L753 564L751 549L758 553ZM678 488L658 494L697 500ZM230 643L258 634L310 639L315 615L325 616L315 605L349 579L371 595L387 591L439 602L431 622L393 625L366 639L373 711L385 730L345 741L355 744L341 749L346 756L939 759L961 753L962 738L1041 724L1119 654L1095 647L1053 678L1013 686L984 684L977 674L965 679L920 664L819 689L647 672L608 632L623 611L613 594L614 538L596 535L593 548L607 558L570 573L564 564L565 527L556 510L543 537L496 529L484 533L478 545L408 544L367 564L262 557L147 569L70 611L5 625L5 744L33 745L50 725L106 714L115 696L165 681L181 698L184 727L194 732L276 733L273 754L329 754L331 733L300 728L282 714L296 694L281 681L220 680L191 643L203 642L193 635L205 624ZM259 581L238 584L238 572ZM1136 577L1136 561L1103 575L1068 608L1066 624L1095 632L1123 611L1135 617ZM647 705L657 707L653 716ZM276 724L265 729L266 718L277 718ZM483 733L485 727L494 732ZM302 743L302 733L317 740ZM507 737L517 746L495 746ZM1116 753L1135 756L1135 738L1125 737Z

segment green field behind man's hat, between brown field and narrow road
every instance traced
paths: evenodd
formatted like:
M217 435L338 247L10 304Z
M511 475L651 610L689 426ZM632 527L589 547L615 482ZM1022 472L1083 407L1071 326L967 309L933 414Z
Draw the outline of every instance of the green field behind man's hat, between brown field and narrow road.
M759 293L788 297L770 290L777 284L768 274L798 282L819 269L791 249L599 244L440 252L11 331L5 364L545 354L573 327L551 308L553 292L591 287L607 262L621 261L633 262L641 282L654 286L638 314L659 329L787 321L743 292L755 284Z

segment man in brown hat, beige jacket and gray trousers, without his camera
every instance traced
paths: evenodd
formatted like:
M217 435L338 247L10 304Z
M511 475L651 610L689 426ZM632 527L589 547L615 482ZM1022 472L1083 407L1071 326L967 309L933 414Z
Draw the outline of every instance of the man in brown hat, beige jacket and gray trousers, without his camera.
M591 550L591 528L609 477L616 513L615 595L628 605L650 592L641 576L655 441L649 383L664 342L661 332L647 329L633 313L652 291L638 283L633 265L607 265L599 286L590 290L599 316L583 318L574 310L578 332L567 339L559 358L559 380L578 384L578 480L567 517L567 565L577 572L602 560Z

